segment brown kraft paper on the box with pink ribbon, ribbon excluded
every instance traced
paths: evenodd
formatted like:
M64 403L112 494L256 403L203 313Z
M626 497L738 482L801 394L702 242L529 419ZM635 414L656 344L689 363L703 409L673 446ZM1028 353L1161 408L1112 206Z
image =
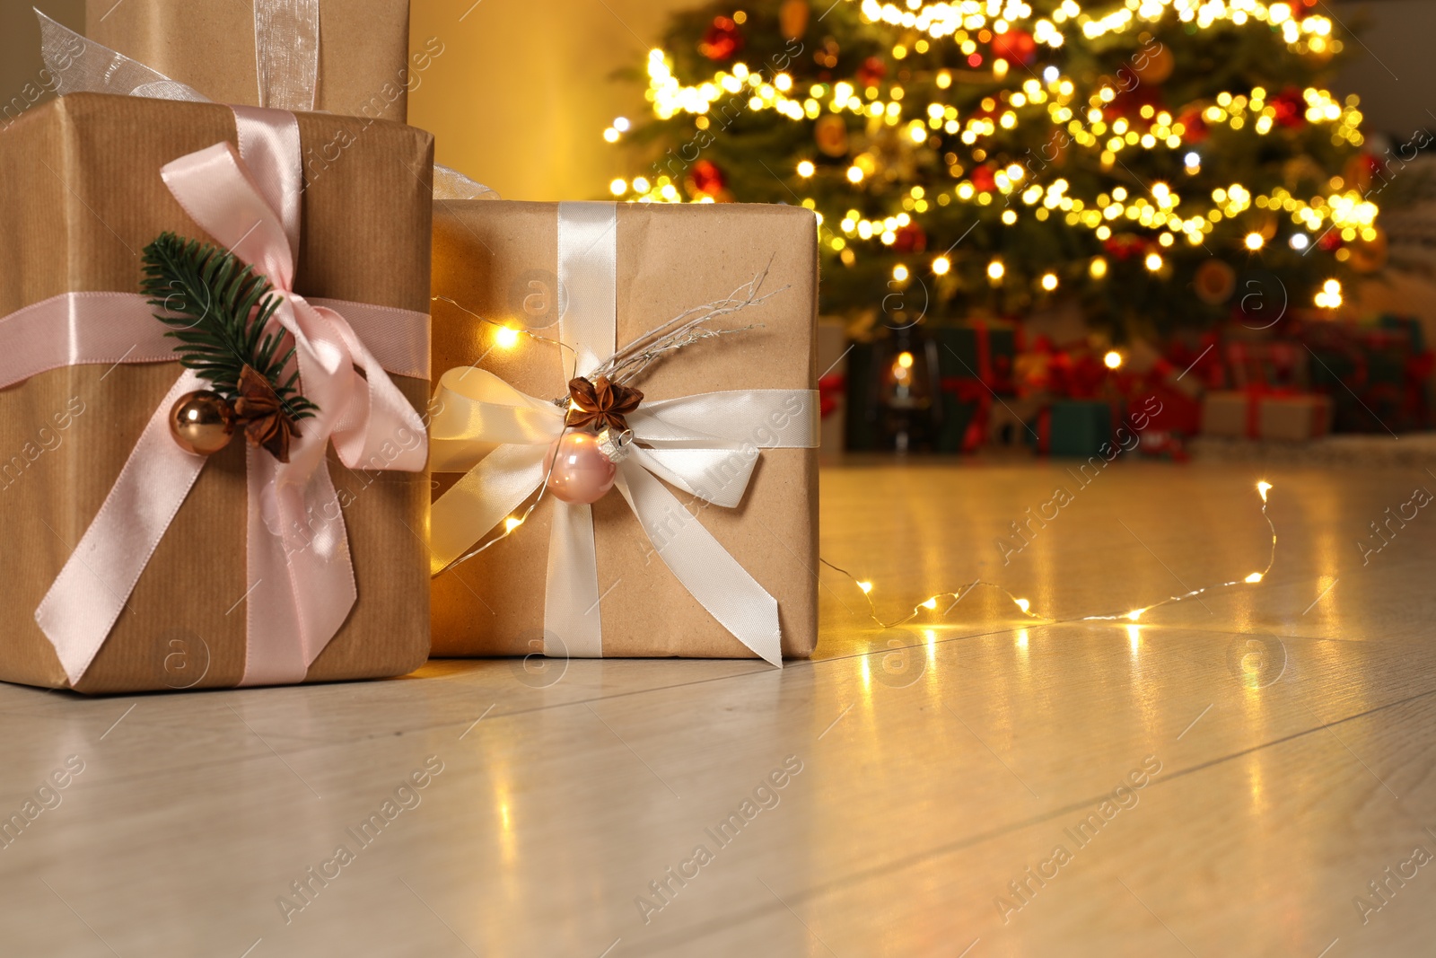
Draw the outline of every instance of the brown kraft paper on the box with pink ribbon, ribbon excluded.
M297 121L304 144L346 134L353 145L306 182L296 292L426 313L432 136L386 122L360 134L365 121L320 113ZM138 293L141 251L157 236L208 240L159 169L221 141L236 141L225 106L98 93L53 101L16 122L0 135L0 316L67 292ZM0 550L0 679L69 687L36 606L181 372L178 362L76 365L0 391L9 541ZM392 379L425 408L426 379ZM332 447L329 470L359 597L307 681L406 674L428 654L428 550L419 539L428 474L349 471ZM247 587L246 444L236 438L200 473L76 691L236 685Z

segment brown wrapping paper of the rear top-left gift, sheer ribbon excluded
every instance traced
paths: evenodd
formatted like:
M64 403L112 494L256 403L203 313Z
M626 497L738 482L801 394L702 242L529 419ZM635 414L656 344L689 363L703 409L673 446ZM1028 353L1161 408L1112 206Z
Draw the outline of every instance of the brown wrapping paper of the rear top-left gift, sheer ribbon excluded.
M217 103L260 105L254 0L86 0L85 14L96 43ZM316 111L404 122L426 69L424 53L408 62L408 0L320 0L319 45Z

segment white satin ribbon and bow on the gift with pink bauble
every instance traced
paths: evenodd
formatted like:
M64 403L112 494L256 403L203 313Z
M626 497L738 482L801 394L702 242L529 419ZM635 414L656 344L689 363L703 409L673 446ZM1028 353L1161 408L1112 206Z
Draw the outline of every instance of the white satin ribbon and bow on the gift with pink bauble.
M617 208L559 204L559 338L587 375L617 335ZM572 350L572 352L570 352ZM671 359L669 362L682 362ZM740 642L783 665L778 603L659 480L721 507L742 501L763 448L817 445L817 392L747 389L645 401L628 415L635 444L616 487L653 550L684 587ZM544 455L563 432L564 406L524 395L477 366L449 369L435 391L431 468L467 473L434 503L438 572L503 523L544 481ZM495 448L497 447L497 448ZM553 500L544 633L561 652L603 655L599 570L589 506ZM546 652L559 654L559 649Z

